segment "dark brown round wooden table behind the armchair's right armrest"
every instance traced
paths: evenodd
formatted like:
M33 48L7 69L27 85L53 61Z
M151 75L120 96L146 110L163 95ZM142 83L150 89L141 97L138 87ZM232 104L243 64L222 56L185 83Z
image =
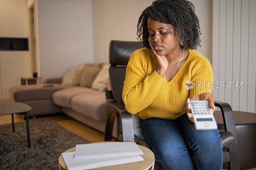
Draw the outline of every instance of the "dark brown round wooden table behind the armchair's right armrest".
M224 130L221 111L214 111L218 129ZM256 114L233 111L238 144L239 168L252 169L256 167ZM225 148L223 148L225 149ZM223 169L228 169L227 162Z

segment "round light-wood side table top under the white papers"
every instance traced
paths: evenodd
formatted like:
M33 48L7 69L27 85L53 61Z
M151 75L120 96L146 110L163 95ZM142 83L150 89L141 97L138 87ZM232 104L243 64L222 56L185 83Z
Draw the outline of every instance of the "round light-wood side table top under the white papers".
M97 143L91 143L91 144L103 144L103 143L111 143L111 142L97 142ZM94 169L95 170L103 170L103 169L104 170L113 170L113 169L129 169L129 170L131 169L132 170L134 169L135 170L135 169L149 169L152 167L151 169L153 170L154 164L155 164L154 153L144 146L140 146L140 145L138 146L140 147L141 151L144 153L144 155L140 155L144 159L143 161L131 162L131 163L119 164L119 165L113 165L113 166L104 166L104 167L99 167ZM76 151L76 147L71 148L65 152L75 152L75 151ZM63 170L68 169L62 155L60 155L60 158L59 158L59 166Z

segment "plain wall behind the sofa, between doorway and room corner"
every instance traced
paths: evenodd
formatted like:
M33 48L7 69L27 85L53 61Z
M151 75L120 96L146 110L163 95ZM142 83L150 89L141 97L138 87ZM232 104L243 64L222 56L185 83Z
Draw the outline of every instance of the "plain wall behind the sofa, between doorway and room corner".
M40 76L93 62L92 0L38 0Z

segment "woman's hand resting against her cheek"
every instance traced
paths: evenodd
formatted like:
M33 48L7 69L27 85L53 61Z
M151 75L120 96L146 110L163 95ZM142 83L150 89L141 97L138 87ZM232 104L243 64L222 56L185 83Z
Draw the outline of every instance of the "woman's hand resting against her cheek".
M156 61L156 65L157 65L156 73L159 76L164 77L164 75L166 73L166 70L168 68L168 61L165 58L165 56L160 56L160 55L156 54L155 49L151 46L150 43L149 43L149 45L150 45L150 48L151 48L151 50L154 54L154 57L155 57L155 61Z

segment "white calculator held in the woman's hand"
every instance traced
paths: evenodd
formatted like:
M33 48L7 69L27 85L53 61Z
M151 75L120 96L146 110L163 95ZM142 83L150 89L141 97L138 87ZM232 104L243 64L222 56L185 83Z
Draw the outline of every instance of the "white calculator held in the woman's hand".
M189 103L196 130L217 129L216 119L207 100L192 100Z

